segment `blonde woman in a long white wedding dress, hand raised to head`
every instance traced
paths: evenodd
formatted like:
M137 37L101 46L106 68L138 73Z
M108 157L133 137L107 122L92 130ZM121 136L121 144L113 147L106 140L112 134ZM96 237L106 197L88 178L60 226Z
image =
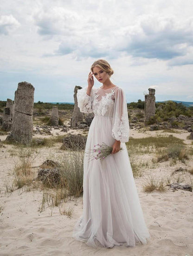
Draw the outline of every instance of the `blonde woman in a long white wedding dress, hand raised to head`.
M80 111L95 116L84 154L83 214L72 236L95 248L146 244L150 235L125 145L129 140L125 95L110 81L114 71L107 61L97 60L91 71L88 87L77 92ZM93 76L102 83L100 88L93 86ZM90 160L89 149L102 143L112 146L111 154L103 160Z

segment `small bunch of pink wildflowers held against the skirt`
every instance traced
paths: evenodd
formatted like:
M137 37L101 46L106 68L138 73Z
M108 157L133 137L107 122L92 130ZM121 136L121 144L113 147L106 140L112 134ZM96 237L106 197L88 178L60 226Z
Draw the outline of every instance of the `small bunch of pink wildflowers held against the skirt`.
M87 153L91 154L91 160L94 160L94 159L103 160L109 154L111 154L112 149L113 149L112 146L108 146L103 142L102 145L99 145L99 144L94 145L94 149L90 149ZM120 151L121 150L122 150L122 147L120 148Z

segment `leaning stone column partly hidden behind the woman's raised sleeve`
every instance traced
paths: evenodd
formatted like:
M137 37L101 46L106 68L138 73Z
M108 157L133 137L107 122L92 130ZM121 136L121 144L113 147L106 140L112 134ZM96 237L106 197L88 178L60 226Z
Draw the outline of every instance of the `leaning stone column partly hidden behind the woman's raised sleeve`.
M80 112L77 102L77 90L82 89L81 86L75 86L74 88L74 111L71 118L71 127L77 127L77 122L83 121L83 113Z

